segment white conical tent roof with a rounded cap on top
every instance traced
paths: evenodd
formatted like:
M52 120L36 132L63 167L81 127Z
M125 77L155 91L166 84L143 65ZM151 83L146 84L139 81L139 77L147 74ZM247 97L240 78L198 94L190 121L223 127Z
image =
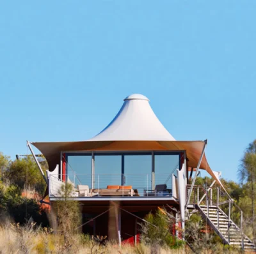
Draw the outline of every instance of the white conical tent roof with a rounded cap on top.
M154 114L148 101L142 94L127 96L111 123L87 141L175 140Z

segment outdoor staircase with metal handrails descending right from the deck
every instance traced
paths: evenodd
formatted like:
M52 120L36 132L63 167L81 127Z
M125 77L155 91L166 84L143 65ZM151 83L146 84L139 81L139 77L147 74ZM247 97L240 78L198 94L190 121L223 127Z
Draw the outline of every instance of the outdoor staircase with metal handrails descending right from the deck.
M208 189L203 186L193 186L191 197L194 198L191 202L189 200L188 204L200 212L202 218L221 237L224 244L244 251L256 252L255 243L243 233L243 211L227 193L221 192L220 188L212 188L212 185ZM190 189L191 186L187 185L187 193ZM220 208L222 205L228 205L225 208L228 215ZM240 227L232 221L232 207L236 207L240 213L241 218L237 221Z

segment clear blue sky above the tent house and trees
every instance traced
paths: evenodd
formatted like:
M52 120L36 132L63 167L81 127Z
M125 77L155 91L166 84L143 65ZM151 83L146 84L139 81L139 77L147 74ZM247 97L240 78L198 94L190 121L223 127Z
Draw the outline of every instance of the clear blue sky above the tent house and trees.
M255 1L1 1L0 151L86 140L141 93L237 181L255 135Z

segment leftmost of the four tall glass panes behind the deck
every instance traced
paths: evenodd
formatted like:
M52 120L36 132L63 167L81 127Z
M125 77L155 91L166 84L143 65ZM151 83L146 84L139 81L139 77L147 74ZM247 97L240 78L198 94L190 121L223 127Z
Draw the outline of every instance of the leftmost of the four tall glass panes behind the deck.
M67 181L92 186L92 155L67 155Z

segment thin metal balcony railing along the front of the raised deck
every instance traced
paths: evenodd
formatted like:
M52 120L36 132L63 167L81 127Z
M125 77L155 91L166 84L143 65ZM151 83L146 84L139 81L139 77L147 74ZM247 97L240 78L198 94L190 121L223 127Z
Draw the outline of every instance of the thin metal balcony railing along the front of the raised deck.
M70 197L172 197L172 174L72 174L63 178L72 185ZM49 197L63 197L61 186L65 183L50 175Z

